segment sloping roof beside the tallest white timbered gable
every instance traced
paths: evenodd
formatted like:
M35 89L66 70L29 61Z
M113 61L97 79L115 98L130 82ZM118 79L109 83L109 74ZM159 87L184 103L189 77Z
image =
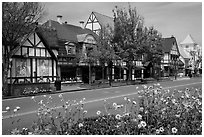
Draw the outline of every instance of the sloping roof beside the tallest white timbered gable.
M103 15L103 14L100 14L98 12L92 12L92 13L96 16L96 19L99 21L99 24L102 27L106 27L107 25L109 25L112 28L114 27L113 18L106 16L106 15Z

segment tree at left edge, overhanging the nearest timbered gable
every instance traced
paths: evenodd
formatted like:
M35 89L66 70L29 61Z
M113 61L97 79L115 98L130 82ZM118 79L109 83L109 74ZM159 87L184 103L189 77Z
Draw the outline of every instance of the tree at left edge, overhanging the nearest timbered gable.
M28 34L35 30L36 22L44 15L44 8L36 2L2 3L2 85L3 94L8 94L8 71L12 55Z

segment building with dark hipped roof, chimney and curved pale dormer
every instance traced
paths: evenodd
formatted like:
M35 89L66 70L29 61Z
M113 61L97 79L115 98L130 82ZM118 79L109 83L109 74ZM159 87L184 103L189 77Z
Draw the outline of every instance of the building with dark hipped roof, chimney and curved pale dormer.
M88 62L84 60L88 58L88 52L97 47L97 35L89 29L62 22L62 16L58 16L57 21L48 20L43 26L56 30L59 44L57 70L61 80L88 83ZM92 80L95 80L95 69L91 72Z

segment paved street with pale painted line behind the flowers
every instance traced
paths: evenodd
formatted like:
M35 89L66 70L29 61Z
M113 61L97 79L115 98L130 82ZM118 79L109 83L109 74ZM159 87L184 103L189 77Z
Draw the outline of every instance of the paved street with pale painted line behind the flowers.
M146 84L152 85L150 84ZM163 89L184 89L184 88L201 88L202 78L192 78L189 80L179 80L179 81L165 81L160 82ZM138 87L138 88L136 88ZM61 101L61 96L64 101L72 101L73 104L84 101L84 110L87 110L87 116L94 116L96 112L100 110L102 113L106 113L104 109L104 100L112 104L116 102L118 104L124 103L124 97L130 99L137 98L138 90L142 90L142 85L129 85L121 87L112 87L96 90L84 90L78 92L66 92L62 94L52 94L52 95L41 95L36 96L34 100L32 97L14 98L2 100L2 134L8 134L8 132L15 127L28 127L30 128L32 122L37 119L37 109L39 107L38 102L41 100L45 101L51 96L52 102L49 104L50 107L54 107L60 111L62 109L63 102ZM13 110L19 106L20 109L15 115ZM10 111L6 112L6 107L10 107ZM13 116L13 117L11 117ZM12 124L13 122L13 124Z

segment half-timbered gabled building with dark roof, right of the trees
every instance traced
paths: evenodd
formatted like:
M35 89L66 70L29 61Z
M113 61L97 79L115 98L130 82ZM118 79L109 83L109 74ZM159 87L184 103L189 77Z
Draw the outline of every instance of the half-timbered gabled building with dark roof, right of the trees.
M179 49L174 36L163 38L162 41L164 57L161 61L161 68L164 76L174 76L179 69Z

